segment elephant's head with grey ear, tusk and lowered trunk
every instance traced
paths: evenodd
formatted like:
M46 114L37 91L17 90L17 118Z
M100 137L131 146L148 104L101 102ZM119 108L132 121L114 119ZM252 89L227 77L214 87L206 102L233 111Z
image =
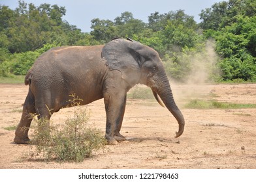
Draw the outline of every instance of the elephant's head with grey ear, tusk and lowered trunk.
M117 38L104 45L102 57L109 69L120 71L131 87L140 83L152 88L158 103L162 106L165 103L179 123L176 137L182 135L184 116L174 101L163 63L154 49L130 39Z

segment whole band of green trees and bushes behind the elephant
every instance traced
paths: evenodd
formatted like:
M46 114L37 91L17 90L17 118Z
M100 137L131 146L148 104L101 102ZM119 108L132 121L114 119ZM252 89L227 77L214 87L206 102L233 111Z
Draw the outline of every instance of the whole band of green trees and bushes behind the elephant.
M114 21L92 19L91 32L64 21L65 13L65 7L49 4L36 7L19 1L15 10L0 5L0 76L24 75L54 46L105 44L128 36L153 47L172 79L185 82L203 70L205 80L256 81L253 0L214 3L200 12L201 23L184 10L153 12L147 23L123 12Z

